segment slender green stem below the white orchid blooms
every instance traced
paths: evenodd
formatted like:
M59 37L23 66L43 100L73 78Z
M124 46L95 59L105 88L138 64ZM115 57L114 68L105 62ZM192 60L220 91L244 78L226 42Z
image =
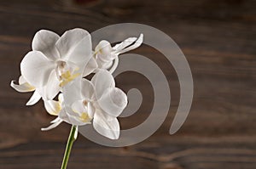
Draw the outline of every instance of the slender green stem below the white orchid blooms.
M69 155L73 146L73 142L76 140L77 135L78 135L78 127L77 126L72 126L70 133L69 133L69 137L67 140L67 146L66 146L66 150L65 150L65 154L63 157L63 161L62 161L62 165L61 165L61 169L66 169L67 168L67 162L69 159Z

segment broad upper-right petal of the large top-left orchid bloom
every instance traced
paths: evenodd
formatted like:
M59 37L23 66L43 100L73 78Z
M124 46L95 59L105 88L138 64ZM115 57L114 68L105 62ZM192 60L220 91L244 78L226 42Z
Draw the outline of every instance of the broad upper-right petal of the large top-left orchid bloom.
M80 28L66 31L56 42L61 59L86 65L91 57L90 33Z

